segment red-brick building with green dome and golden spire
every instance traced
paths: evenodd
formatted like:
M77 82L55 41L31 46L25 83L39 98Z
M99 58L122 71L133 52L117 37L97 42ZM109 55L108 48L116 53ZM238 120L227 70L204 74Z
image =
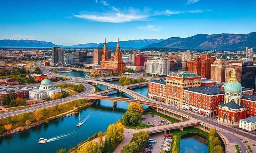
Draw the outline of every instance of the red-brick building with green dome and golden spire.
M218 109L219 121L236 124L246 118L247 108L241 103L242 96L242 85L233 69L229 81L224 85L224 103L220 103Z

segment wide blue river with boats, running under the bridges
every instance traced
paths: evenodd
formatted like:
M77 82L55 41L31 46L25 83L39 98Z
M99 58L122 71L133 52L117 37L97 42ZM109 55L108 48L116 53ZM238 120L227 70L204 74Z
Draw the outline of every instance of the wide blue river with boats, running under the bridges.
M112 83L118 84L118 82ZM105 88L106 86L100 85L100 89L104 90ZM148 87L133 89L133 91L141 92L141 94L147 96ZM125 93L113 93L109 96L130 97ZM117 106L113 111L112 101L100 100L100 102L81 111L81 119L92 113L82 126L76 128L76 124L79 122L79 114L52 120L48 124L42 124L29 130L0 138L1 152L55 153L60 148L69 150L69 145L72 148L94 133L106 131L109 124L113 124L122 118L128 105L128 103L117 102ZM147 108L147 106L143 106L143 108ZM38 144L39 138L47 138L52 141Z

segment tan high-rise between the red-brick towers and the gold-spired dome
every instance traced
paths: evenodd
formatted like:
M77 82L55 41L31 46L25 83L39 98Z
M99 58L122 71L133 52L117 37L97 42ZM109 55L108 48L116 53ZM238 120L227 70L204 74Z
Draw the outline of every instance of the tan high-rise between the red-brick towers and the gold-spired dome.
M218 82L225 82L225 70L227 67L227 60L216 59L211 65L211 79Z

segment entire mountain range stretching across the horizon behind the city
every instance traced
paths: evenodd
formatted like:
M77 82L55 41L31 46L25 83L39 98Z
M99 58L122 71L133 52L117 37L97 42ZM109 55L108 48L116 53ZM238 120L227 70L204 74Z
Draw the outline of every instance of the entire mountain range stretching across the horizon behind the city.
M256 32L249 34L196 34L192 37L171 37L164 39L144 39L119 41L121 48L177 48L198 50L244 50L245 47L256 47ZM109 49L116 48L117 42L108 42ZM38 40L0 40L0 47L52 47L60 46L67 48L102 48L103 43L85 43L73 46L55 45L52 42ZM164 49L166 48L166 49Z

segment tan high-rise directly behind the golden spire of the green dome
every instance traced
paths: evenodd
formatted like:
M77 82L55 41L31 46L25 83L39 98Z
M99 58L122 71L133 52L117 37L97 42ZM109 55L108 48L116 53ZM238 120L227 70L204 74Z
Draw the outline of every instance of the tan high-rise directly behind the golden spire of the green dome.
M229 63L228 67L225 69L225 83L229 81L231 77L232 70L236 71L236 78L241 83L242 82L242 63Z

